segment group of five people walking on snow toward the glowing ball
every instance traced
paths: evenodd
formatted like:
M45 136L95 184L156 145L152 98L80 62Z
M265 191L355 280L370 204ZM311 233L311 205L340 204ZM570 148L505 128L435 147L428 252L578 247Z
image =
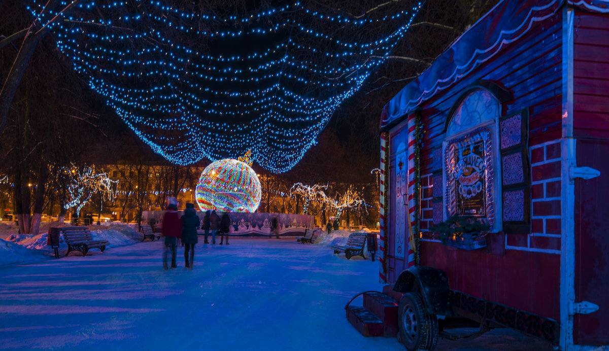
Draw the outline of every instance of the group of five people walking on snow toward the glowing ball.
M188 269L192 269L194 265L194 245L199 242L197 237L197 229L200 227L205 231L205 243L208 244L207 237L211 230L212 243L216 243L216 233L220 231L222 238L220 245L224 242L224 235L227 237L230 230L230 217L224 212L222 219L216 214L216 210L211 213L209 210L205 212L203 221L199 219L197 210L194 209L194 204L186 203L186 210L181 218L178 218L178 203L175 198L169 200L167 212L163 216L163 236L165 237L165 250L163 252L163 269L169 269L167 264L167 256L171 251L171 268L177 268L176 255L178 238L181 238L184 245L184 265Z

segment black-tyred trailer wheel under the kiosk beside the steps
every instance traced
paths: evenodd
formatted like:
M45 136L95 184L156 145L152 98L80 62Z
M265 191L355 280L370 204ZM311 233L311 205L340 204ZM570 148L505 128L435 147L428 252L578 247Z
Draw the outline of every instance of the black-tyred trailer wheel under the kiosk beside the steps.
M420 293L406 293L398 308L400 341L409 351L434 350L438 342L438 320L425 311Z

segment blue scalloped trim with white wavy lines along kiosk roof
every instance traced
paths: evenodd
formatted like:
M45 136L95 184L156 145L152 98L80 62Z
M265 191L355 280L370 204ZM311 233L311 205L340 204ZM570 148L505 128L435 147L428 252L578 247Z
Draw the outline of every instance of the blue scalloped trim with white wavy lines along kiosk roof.
M418 105L501 52L502 47L529 32L533 24L555 15L564 0L505 0L466 30L419 77L385 105L381 129L400 122ZM590 12L609 13L609 0L569 0ZM500 29L500 30L499 30Z

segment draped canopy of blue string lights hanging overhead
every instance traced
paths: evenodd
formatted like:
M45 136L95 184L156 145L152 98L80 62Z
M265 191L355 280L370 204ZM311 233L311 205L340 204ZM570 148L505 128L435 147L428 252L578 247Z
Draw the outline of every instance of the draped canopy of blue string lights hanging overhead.
M46 11L38 20L64 16L58 48L164 158L186 165L252 150L252 161L281 173L316 143L421 7L356 18L314 4L219 17L167 0L83 1L69 16ZM44 2L28 5L38 16Z

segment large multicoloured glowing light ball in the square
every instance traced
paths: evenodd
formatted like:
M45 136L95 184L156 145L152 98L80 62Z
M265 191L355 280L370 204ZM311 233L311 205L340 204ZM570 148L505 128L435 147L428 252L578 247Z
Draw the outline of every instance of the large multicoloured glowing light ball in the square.
M205 167L197 184L201 210L254 212L262 191L256 172L236 159L221 159Z

